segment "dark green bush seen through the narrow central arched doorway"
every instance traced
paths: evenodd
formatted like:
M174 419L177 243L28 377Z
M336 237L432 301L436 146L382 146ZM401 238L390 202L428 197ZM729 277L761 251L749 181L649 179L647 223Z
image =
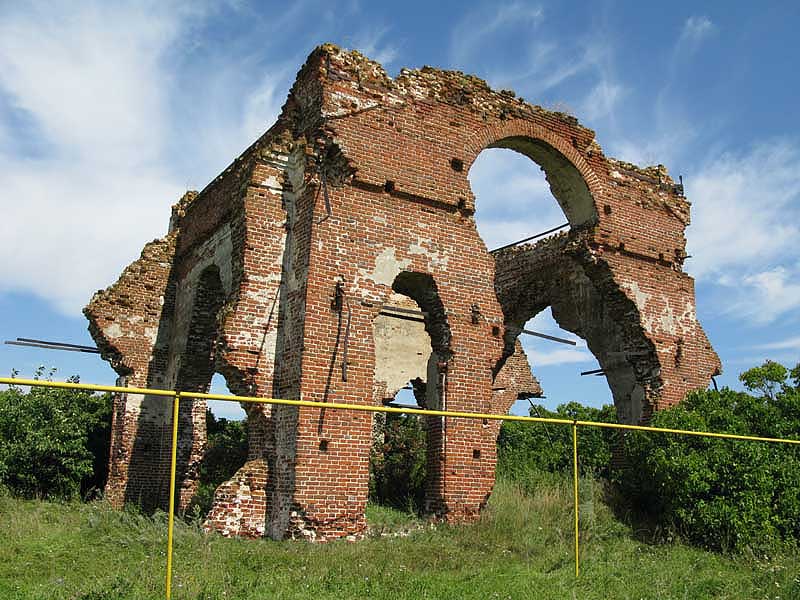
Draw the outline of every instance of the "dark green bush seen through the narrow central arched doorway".
M370 452L370 500L418 512L425 502L425 450L421 419L387 413L383 439Z

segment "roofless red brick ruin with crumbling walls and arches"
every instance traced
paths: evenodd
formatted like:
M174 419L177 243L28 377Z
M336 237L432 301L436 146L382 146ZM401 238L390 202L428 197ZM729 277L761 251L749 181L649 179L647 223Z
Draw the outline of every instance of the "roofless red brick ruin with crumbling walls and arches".
M467 173L486 148L544 170L569 229L490 253ZM620 418L705 387L720 363L683 272L689 202L663 167L604 156L572 116L429 67L389 77L324 45L277 122L173 207L85 314L122 385L353 404L413 382L420 405L505 414L541 394L518 337L547 307L585 339ZM165 508L170 403L115 399L107 498ZM179 508L198 485L205 402L179 416ZM324 541L360 536L370 413L246 405L249 455L206 527ZM499 425L426 417L425 509L475 519Z

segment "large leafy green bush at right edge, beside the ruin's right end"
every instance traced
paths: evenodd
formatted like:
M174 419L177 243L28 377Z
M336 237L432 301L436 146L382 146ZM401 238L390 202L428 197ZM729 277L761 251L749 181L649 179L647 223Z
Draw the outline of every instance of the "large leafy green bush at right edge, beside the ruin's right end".
M652 425L800 438L800 391L786 383L786 369L775 364L768 361L741 376L761 396L727 388L694 392L656 413ZM708 548L735 551L800 540L796 446L629 433L625 448L627 467L619 477L623 494L668 531Z

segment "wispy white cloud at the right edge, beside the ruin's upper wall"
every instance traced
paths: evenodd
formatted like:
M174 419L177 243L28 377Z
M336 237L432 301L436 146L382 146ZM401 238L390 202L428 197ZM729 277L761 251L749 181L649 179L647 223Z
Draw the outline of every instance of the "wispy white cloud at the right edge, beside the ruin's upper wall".
M783 139L723 154L687 180L687 268L722 290L723 312L763 325L800 308L798 172L800 146Z

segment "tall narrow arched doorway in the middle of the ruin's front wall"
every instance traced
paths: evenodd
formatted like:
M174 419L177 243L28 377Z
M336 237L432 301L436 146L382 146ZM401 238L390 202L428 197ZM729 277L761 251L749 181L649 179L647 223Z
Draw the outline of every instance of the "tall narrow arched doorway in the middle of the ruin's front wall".
M404 271L395 278L392 290L373 320L375 400L384 405L401 402L445 409L443 366L451 355L451 335L436 282L429 274ZM419 486L421 444L424 488ZM413 506L422 512L435 512L442 498L445 445L444 419L376 415L371 456L373 500L395 508Z

